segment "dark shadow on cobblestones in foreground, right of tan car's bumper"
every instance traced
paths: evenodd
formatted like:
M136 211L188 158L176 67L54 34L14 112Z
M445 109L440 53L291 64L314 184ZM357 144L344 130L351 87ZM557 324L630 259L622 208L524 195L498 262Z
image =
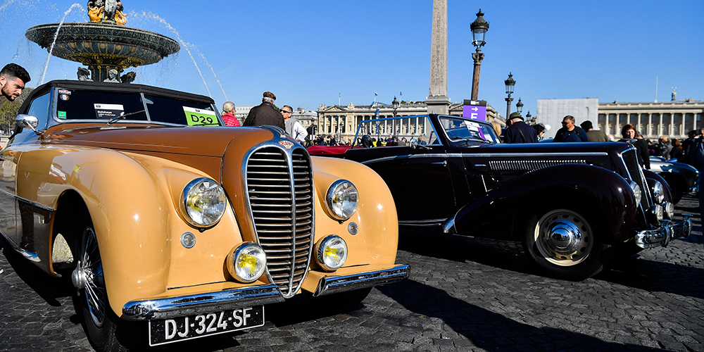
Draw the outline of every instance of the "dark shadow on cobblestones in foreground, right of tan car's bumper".
M446 291L415 282L413 279L378 289L414 313L440 318L455 332L469 339L474 346L487 351L665 351L633 344L606 342L563 329L533 327L474 306L450 296ZM399 324L405 325L403 321Z

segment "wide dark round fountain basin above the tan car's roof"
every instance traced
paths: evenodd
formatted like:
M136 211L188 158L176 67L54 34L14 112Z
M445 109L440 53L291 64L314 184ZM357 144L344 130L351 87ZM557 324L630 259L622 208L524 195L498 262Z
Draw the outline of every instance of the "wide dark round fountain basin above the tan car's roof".
M49 51L59 25L31 27L25 37ZM148 30L106 23L63 23L51 54L87 65L92 79L102 81L110 69L122 73L125 68L157 63L180 49L174 39Z

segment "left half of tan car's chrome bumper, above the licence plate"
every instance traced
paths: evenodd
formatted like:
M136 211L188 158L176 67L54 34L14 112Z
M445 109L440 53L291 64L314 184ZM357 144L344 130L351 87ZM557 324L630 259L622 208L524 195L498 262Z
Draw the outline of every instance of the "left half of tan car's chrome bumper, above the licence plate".
M265 284L220 292L130 301L122 307L122 318L126 320L168 319L283 301L279 287L275 284Z

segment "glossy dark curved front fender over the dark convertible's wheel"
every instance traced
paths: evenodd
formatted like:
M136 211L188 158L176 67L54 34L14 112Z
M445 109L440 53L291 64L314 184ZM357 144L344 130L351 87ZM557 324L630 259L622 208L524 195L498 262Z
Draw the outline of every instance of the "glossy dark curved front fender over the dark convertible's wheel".
M636 200L629 184L615 172L592 165L555 165L505 182L484 197L461 208L453 218L459 234L510 239L521 216L536 205L560 197L582 197L603 217L608 239L629 236L636 216ZM447 229L446 230L452 230Z

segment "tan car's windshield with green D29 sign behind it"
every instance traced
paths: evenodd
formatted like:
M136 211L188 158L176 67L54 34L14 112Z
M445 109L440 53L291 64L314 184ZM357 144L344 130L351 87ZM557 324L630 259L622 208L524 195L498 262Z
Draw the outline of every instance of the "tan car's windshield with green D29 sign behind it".
M91 92L58 89L58 120L120 120L165 122L175 125L219 126L208 103L196 103L139 93ZM117 121L113 120L113 122Z

